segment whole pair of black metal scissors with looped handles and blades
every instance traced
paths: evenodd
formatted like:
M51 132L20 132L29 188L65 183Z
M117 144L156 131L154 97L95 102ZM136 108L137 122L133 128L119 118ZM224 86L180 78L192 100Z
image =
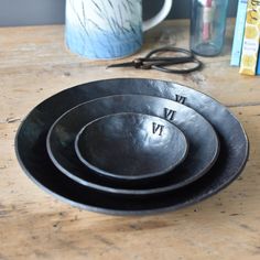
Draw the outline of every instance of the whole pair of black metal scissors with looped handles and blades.
M158 56L160 53L173 53L172 57ZM176 56L177 54L178 56ZM181 55L180 55L181 54ZM175 66L176 68L169 68L171 65L192 64L193 66L184 68L183 66ZM161 47L151 51L147 56L139 57L128 63L112 64L111 67L134 67L139 69L158 69L164 73L187 74L198 71L203 67L203 63L198 61L191 51L180 47Z

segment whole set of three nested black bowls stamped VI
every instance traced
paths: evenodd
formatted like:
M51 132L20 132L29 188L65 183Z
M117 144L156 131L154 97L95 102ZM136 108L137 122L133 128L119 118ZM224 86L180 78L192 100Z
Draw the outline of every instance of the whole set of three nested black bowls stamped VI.
M155 79L83 84L36 106L15 138L39 186L84 209L155 214L198 203L243 170L249 143L212 97Z

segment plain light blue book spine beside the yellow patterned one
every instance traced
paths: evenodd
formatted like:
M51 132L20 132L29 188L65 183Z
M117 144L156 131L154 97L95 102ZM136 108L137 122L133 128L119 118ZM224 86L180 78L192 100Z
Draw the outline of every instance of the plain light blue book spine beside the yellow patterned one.
M238 10L237 10L236 26L234 33L231 62L230 62L231 66L240 65L245 23L247 17L247 6L248 6L248 0L238 1Z

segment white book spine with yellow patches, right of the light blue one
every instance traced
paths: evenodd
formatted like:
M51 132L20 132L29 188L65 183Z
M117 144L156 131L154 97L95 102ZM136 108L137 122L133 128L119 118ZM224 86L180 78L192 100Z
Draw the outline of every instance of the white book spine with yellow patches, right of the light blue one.
M248 0L240 74L256 75L260 35L260 0Z

